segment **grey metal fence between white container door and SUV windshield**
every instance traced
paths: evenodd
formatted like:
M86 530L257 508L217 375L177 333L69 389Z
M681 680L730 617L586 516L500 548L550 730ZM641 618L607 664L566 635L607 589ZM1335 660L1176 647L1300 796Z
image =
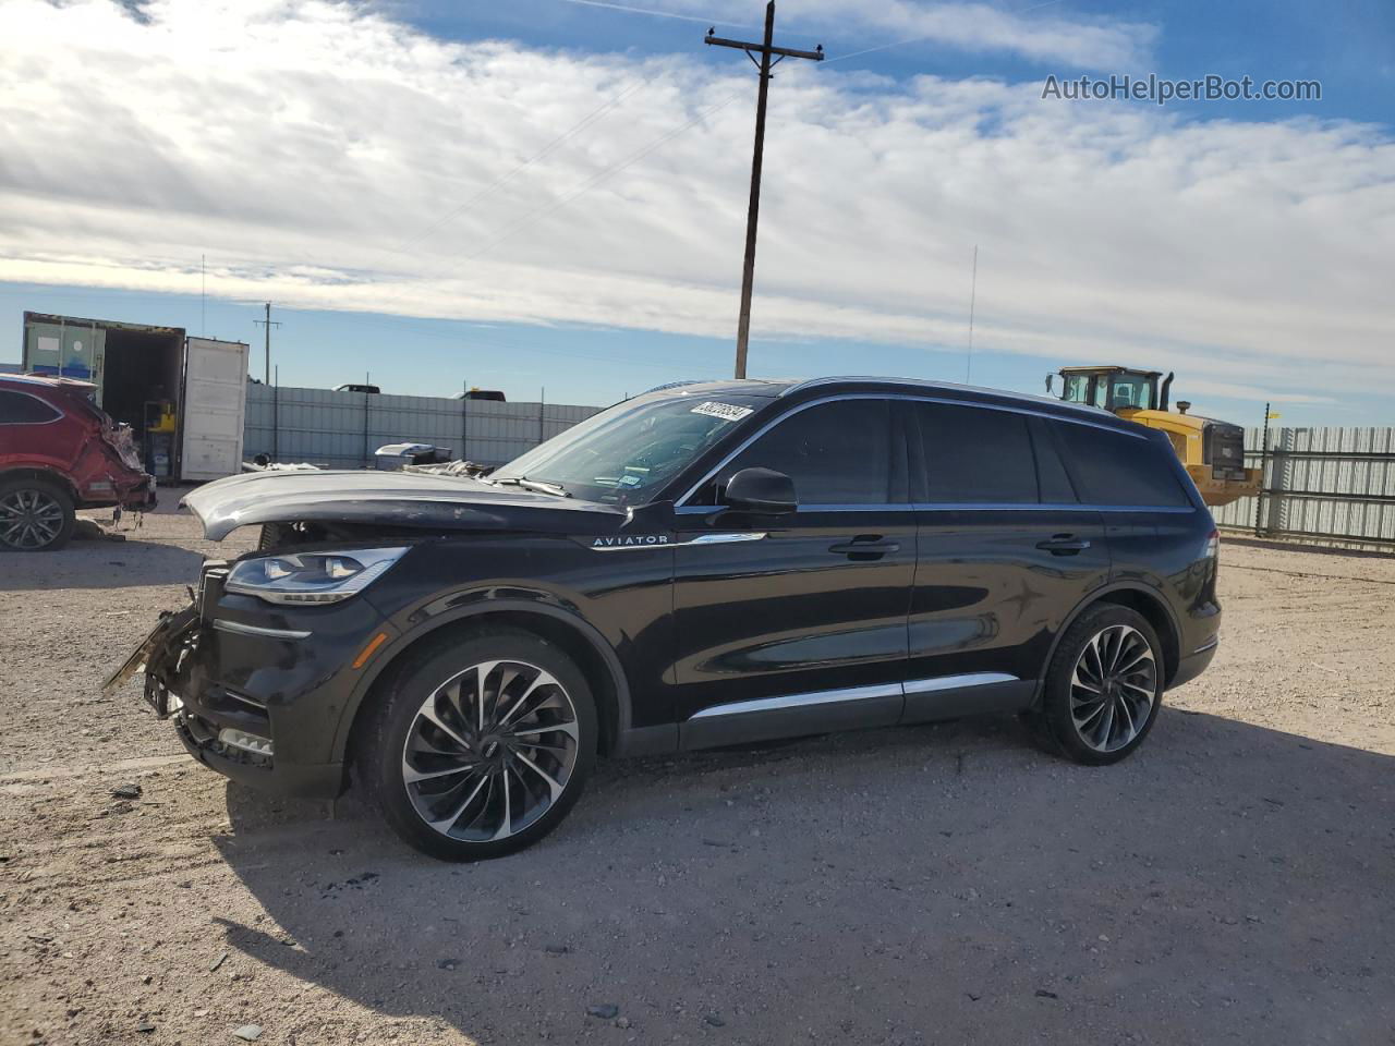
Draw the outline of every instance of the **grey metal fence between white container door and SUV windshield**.
M434 444L452 457L502 464L600 407L564 403L385 396L271 385L247 386L243 456L361 469L384 444Z

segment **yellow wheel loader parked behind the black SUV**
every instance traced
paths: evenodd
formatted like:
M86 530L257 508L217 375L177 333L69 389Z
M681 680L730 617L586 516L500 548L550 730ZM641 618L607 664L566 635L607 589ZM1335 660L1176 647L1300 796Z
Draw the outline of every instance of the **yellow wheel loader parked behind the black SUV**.
M1119 417L1168 434L1172 449L1201 491L1207 505L1229 505L1260 491L1260 470L1244 467L1244 430L1226 421L1189 414L1191 404L1177 402L1168 410L1172 374L1131 367L1062 367L1046 377L1046 392L1066 403L1103 407Z

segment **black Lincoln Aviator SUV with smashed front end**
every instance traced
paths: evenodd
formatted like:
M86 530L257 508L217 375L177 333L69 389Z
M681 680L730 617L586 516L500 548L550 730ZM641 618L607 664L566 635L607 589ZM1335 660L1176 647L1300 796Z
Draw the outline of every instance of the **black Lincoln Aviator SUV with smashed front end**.
M1211 661L1218 537L1165 435L929 382L658 389L488 477L234 476L208 562L114 686L237 781L333 796L412 845L506 854L597 755L1024 713L1133 752Z

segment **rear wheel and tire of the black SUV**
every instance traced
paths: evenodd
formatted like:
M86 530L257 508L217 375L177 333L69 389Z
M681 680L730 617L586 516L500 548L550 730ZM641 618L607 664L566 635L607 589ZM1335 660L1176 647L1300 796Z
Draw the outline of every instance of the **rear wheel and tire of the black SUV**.
M1117 763L1152 729L1165 669L1162 644L1141 614L1091 607L1062 636L1046 669L1038 735L1077 763Z

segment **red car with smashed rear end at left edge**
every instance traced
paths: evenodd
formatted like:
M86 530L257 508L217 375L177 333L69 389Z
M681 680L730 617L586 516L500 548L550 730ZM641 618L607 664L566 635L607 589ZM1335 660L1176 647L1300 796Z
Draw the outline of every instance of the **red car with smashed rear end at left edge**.
M61 548L77 509L155 506L130 428L70 378L0 377L0 551Z

